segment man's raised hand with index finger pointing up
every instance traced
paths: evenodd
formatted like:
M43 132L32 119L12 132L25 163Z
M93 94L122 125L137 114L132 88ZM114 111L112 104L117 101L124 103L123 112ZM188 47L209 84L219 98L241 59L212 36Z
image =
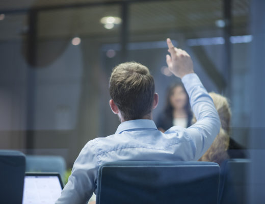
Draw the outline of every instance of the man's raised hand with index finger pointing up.
M194 73L191 56L186 51L174 47L169 38L167 43L168 52L171 55L171 57L170 55L166 56L169 70L179 78L184 77L186 74Z

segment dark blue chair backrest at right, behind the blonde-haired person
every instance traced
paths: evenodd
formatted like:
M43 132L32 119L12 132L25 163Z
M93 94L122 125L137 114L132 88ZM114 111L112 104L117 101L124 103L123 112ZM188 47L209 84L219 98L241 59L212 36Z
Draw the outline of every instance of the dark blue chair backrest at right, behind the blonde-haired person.
M220 204L244 204L248 202L248 159L229 159L222 163L220 179Z

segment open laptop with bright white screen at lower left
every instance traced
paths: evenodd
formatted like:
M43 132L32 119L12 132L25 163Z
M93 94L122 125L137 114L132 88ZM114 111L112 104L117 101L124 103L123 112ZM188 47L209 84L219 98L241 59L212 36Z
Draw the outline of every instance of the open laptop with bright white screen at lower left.
M59 173L25 173L22 204L54 204L63 189Z

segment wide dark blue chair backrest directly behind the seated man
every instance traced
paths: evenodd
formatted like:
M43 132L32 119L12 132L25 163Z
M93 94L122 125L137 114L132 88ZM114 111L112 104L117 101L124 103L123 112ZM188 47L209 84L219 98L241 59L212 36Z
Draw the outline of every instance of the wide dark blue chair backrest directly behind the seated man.
M217 203L219 178L212 162L106 163L98 171L96 204Z

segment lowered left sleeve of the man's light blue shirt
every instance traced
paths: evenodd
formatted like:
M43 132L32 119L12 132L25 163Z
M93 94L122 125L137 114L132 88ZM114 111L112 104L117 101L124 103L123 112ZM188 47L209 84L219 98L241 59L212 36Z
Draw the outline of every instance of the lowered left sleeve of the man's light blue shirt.
M91 140L75 160L72 173L56 204L87 204L96 189L97 164L96 147Z

